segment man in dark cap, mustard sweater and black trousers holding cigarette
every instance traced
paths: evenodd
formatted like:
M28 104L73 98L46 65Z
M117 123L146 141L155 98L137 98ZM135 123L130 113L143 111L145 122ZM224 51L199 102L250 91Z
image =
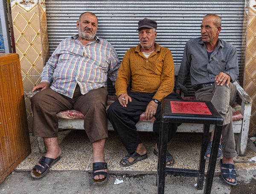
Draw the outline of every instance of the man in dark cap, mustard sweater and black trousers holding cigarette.
M145 112L146 119L155 117L153 131L157 135L154 154L158 156L161 101L163 98L181 99L173 93L174 62L172 53L155 43L157 23L144 18L139 21L140 44L130 48L123 57L116 80L118 100L108 108L108 117L114 130L122 140L128 155L120 165L130 166L148 157L147 150L140 140L136 123ZM127 92L129 82L131 90ZM168 141L177 131L177 123L169 129ZM166 165L172 165L174 158L167 151Z

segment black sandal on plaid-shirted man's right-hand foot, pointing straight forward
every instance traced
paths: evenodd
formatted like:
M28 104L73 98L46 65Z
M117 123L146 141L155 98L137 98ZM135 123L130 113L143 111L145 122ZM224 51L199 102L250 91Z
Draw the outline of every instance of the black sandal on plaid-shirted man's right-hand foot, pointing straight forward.
M108 170L108 165L107 163L93 163L93 184L99 185L99 184L103 184L107 181L108 179L108 172L105 171L99 171L99 170ZM94 172L94 171L98 171L98 172ZM95 180L94 177L96 175L103 175L105 176L103 179L99 179L99 180Z

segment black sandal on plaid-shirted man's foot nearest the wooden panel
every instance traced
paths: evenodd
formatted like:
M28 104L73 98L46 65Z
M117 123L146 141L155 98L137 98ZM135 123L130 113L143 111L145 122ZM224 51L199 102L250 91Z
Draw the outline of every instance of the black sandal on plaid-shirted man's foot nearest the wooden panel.
M39 164L41 164L42 166L44 166L44 168L40 165L35 165L34 168L31 171L31 177L34 179L40 179L42 177L44 177L45 174L47 174L47 172L49 171L49 169L51 168L52 165L54 165L56 162L58 162L58 160L61 159L61 156L57 157L56 159L52 159L49 157L41 157L41 159L39 160ZM41 174L38 173L36 170L41 171Z

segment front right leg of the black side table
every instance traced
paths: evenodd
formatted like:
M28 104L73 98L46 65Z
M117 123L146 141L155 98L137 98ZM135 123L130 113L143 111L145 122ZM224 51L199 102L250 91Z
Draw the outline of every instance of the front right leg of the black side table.
M207 177L206 182L204 186L204 194L210 194L212 190L212 181L214 177L214 171L215 171L215 165L217 161L218 156L218 148L221 140L221 132L222 132L223 126L215 126L214 130L214 136L212 140L212 150L211 150L211 156L209 159L209 165L207 170Z

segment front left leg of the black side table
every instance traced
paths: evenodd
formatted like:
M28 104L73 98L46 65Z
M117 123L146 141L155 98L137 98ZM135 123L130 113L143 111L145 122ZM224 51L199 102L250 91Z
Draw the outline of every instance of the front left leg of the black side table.
M169 123L161 122L159 148L158 148L158 167L157 167L157 183L158 194L164 194L165 176L166 176L166 150L168 137Z

